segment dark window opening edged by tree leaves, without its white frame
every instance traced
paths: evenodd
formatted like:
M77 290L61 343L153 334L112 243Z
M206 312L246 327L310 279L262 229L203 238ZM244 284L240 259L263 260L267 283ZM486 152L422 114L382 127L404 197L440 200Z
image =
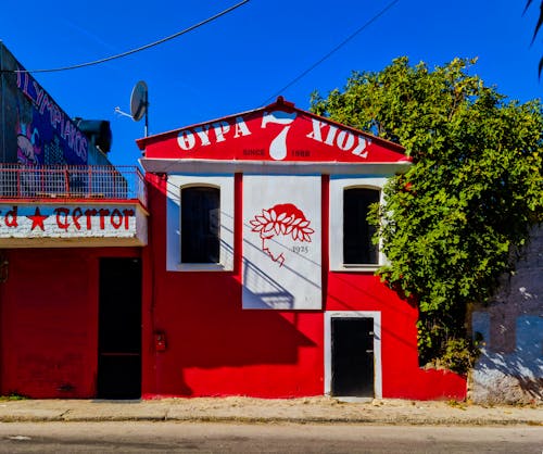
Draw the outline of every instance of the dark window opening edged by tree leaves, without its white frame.
M367 188L345 189L343 192L343 263L377 264L378 248L371 243L375 227L367 222L368 209L379 203L379 191Z

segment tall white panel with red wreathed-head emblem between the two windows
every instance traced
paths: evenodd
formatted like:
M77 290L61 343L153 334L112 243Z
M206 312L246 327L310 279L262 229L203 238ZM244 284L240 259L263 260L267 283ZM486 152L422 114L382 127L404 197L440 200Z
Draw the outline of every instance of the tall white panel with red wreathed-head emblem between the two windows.
M320 310L320 176L243 176L243 308Z

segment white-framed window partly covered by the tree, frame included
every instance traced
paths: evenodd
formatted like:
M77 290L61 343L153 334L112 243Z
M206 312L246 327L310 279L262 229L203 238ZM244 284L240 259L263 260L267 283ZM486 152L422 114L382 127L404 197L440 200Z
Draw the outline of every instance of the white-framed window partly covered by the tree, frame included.
M384 257L372 243L369 206L381 203L384 177L330 178L330 269L372 270Z

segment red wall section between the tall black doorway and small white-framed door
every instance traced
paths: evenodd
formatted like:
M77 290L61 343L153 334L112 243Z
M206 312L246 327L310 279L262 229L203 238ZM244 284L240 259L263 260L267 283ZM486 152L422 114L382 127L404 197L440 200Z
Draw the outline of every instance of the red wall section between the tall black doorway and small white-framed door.
M164 186L164 184L162 185ZM164 187L162 188L162 190ZM241 213L241 178L236 179ZM165 199L150 189L153 264L147 270L143 396L323 394L321 312L241 310L241 217L231 273L165 273ZM166 333L155 352L152 332Z

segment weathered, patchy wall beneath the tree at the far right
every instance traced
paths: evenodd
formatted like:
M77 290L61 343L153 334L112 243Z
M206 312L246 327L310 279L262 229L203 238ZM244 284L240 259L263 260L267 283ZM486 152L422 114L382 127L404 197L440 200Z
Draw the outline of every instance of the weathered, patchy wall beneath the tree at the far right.
M488 307L472 314L483 348L469 396L478 403L543 404L543 226Z

